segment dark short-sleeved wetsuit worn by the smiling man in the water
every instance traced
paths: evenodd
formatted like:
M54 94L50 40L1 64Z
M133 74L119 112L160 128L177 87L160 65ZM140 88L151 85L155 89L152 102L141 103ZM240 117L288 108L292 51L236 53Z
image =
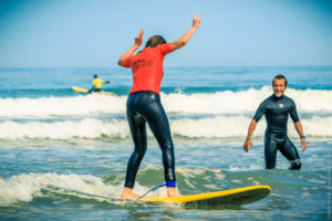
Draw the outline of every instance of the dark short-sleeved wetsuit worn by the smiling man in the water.
M287 122L290 114L293 123L299 122L295 103L282 95L274 95L264 99L258 107L253 119L258 122L266 115L267 130L264 136L266 168L276 167L277 150L290 160L290 169L301 169L301 160L297 148L287 136Z

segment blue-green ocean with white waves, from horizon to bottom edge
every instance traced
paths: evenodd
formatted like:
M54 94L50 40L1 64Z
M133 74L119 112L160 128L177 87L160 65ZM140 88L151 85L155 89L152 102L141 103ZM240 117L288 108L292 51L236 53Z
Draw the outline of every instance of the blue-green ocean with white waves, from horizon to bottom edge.
M242 145L277 74L289 80L307 135L303 167L278 154L266 170L262 118L253 149ZM81 94L93 74L112 80L114 96ZM166 67L162 103L175 143L183 194L268 185L269 197L243 207L185 208L118 199L133 144L125 117L129 70L0 69L0 220L328 220L332 218L332 67ZM134 192L162 185L160 150L148 150ZM166 196L160 188L151 196Z

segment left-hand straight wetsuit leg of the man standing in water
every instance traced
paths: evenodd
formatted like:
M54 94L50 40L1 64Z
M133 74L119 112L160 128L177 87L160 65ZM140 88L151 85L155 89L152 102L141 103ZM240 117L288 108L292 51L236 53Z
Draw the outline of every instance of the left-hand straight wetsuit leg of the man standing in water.
M264 155L266 155L266 169L274 169L277 160L278 143L273 136L264 138Z

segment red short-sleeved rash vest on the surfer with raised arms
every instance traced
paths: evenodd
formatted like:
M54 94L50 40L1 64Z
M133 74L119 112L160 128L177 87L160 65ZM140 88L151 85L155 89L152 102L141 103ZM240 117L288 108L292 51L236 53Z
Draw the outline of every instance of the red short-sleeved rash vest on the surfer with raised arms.
M164 56L172 52L170 44L160 44L156 48L145 48L141 53L124 60L125 67L132 67L133 87L129 94L139 91L151 91L159 94L164 75Z

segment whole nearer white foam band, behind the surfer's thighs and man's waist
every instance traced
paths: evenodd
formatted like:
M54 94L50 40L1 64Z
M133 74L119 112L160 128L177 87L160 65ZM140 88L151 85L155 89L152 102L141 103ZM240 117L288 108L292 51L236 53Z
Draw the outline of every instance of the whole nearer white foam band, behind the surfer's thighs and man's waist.
M248 131L250 118L245 116L218 116L199 119L174 119L170 120L173 135L188 138L227 138L245 137ZM307 136L332 137L332 117L303 118L302 125ZM290 137L298 137L294 126L289 120ZM264 119L257 125L253 136L263 136L266 129ZM148 129L147 135L152 137ZM22 138L49 138L49 139L71 139L71 138L100 138L100 137L128 138L129 128L126 120L112 119L101 120L84 118L81 120L65 120L53 123L17 123L7 120L0 124L0 139L22 139Z

